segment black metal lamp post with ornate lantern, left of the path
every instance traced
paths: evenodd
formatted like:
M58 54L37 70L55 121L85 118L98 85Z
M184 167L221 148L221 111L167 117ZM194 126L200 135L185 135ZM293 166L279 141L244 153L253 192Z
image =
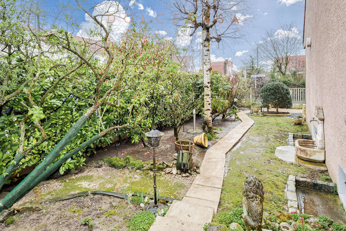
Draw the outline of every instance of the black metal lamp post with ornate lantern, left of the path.
M145 136L148 138L148 147L153 148L153 171L154 171L154 204L151 203L147 207L147 211L150 211L152 213L156 213L158 209L164 208L165 205L163 204L157 204L157 197L156 197L156 159L155 159L155 148L158 148L160 146L160 139L161 136L163 136L164 133L156 130L154 127L153 130L150 132L145 133Z

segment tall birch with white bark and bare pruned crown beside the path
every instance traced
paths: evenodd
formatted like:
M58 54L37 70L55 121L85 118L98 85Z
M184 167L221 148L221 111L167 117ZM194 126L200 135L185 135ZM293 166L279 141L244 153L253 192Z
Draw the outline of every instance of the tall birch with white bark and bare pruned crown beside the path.
M210 92L210 42L220 43L222 39L232 43L240 38L239 24L247 16L244 0L232 2L222 0L178 0L174 2L178 14L174 12L174 21L179 30L187 37L198 37L202 40L202 63L204 74L204 122L203 129L213 133L211 119ZM177 15L177 17L176 17Z

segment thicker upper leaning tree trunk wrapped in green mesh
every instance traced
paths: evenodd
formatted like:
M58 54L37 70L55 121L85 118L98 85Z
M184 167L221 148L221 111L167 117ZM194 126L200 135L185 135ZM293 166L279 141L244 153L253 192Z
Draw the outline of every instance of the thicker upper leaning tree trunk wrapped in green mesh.
M64 135L54 149L47 155L47 157L24 178L9 194L7 194L0 201L0 211L5 207L10 207L21 198L23 192L26 192L31 183L38 178L48 166L50 166L54 160L58 157L60 152L69 144L72 139L78 134L79 130L84 126L88 117L85 115L81 116L78 121L70 128L70 130Z

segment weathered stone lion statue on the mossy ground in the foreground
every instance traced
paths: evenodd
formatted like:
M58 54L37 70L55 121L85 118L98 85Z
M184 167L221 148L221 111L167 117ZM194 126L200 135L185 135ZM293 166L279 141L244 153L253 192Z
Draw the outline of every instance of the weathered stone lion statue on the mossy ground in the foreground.
M245 178L243 186L243 218L246 230L262 231L264 191L254 175Z

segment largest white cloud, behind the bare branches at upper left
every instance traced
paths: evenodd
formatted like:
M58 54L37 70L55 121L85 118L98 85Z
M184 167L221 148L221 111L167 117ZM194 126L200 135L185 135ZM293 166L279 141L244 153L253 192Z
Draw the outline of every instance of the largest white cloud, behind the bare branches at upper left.
M110 30L110 38L116 40L121 33L127 30L131 17L126 17L126 12L122 6L116 1L103 1L99 5L95 6L92 15L106 14L109 16L99 16L98 20ZM91 39L100 39L100 36L90 36L90 31L98 31L103 33L102 28L94 22L94 20L88 15L84 15L85 21L81 23L81 29L77 33L77 36ZM124 20L125 18L125 20ZM127 22L127 23L126 23Z

